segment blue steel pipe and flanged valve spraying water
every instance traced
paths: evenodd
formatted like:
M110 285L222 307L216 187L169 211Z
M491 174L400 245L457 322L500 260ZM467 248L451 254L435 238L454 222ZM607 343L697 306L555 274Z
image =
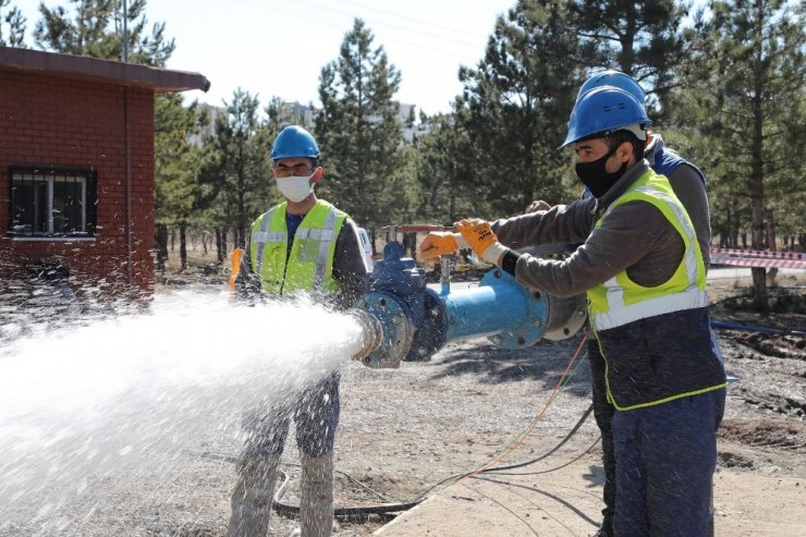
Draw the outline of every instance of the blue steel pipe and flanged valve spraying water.
M425 270L403 255L398 242L387 244L357 304L366 314L366 340L373 342L364 358L370 367L430 359L449 341L471 337L487 335L503 349L520 349L541 338L570 338L585 322L584 297L529 290L500 269L461 291L451 291L445 279L437 292L427 288Z

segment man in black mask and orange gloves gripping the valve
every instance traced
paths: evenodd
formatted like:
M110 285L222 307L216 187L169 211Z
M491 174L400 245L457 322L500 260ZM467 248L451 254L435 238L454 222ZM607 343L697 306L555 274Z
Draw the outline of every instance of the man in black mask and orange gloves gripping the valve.
M644 159L649 118L627 91L581 96L562 147L593 196L493 223L432 233L424 258L468 244L518 282L557 296L585 292L614 407L619 536L706 536L725 373L710 330L694 225L665 176ZM579 244L565 259L511 246Z

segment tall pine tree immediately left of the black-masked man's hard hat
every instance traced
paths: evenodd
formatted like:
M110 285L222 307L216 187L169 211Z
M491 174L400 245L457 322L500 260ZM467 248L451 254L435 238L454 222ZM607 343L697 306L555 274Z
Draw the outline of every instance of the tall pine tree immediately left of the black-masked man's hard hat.
M496 22L485 58L462 68L464 94L456 121L466 130L463 157L469 175L456 178L475 197L488 200L485 217L522 211L542 198L567 198L563 176L569 156L558 151L565 137L585 52L564 1L520 0Z

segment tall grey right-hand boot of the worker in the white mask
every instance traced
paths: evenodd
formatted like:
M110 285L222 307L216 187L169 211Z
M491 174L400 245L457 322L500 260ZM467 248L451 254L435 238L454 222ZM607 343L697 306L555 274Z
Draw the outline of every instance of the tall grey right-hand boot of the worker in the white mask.
M328 537L333 526L333 454L302 457L300 534Z

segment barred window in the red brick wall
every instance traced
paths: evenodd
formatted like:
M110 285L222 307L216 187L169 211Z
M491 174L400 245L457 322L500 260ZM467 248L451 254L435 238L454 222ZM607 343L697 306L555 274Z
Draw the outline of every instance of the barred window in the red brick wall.
M11 178L13 236L95 236L97 178L94 170L15 168Z

